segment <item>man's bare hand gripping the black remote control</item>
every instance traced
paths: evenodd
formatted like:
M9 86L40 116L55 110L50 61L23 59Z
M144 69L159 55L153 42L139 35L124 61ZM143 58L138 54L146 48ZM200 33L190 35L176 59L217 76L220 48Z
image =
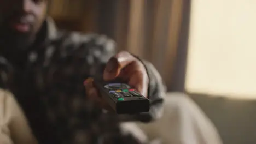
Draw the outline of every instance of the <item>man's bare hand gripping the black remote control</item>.
M147 97L149 81L147 71L142 62L129 52L119 52L107 62L103 79L109 81L117 77L127 82L144 97ZM103 109L111 110L110 106L102 99L100 93L95 88L92 78L86 79L84 85L89 99L95 101Z

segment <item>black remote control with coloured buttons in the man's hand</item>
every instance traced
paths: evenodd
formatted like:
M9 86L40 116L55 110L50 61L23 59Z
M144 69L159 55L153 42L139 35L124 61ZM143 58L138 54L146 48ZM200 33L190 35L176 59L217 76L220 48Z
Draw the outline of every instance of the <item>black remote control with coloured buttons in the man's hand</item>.
M94 80L94 82L103 99L108 102L117 114L135 114L149 111L149 99L126 83L98 80Z

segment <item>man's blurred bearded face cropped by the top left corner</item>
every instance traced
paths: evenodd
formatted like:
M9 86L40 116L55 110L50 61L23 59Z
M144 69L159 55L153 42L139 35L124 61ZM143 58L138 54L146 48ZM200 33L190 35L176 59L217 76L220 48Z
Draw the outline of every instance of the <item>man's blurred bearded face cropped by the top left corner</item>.
M8 37L17 43L27 43L33 39L45 19L47 2L48 0L0 0L1 37Z

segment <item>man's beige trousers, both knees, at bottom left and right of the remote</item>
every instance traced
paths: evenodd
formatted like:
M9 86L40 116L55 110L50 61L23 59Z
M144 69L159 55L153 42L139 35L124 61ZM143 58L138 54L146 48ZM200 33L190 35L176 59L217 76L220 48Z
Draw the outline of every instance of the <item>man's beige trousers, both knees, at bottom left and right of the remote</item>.
M124 133L132 133L143 142L160 137L166 144L220 144L218 132L194 101L179 93L169 94L164 116L158 121L122 123ZM0 144L35 144L24 112L13 95L0 89Z

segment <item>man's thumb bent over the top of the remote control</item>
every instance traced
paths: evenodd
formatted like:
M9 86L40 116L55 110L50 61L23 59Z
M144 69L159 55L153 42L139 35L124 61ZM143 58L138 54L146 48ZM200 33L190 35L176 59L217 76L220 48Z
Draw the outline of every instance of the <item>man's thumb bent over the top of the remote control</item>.
M122 51L118 53L107 62L103 73L103 79L106 81L115 79L120 74L121 69L135 62L135 60L136 58L129 52Z

